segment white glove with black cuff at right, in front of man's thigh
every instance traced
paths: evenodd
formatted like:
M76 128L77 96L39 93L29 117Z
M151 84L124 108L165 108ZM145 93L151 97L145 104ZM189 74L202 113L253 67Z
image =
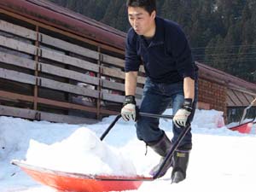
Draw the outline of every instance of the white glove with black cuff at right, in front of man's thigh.
M173 123L178 128L189 125L189 115L193 110L192 99L185 99L183 107L177 110L177 113L173 117Z

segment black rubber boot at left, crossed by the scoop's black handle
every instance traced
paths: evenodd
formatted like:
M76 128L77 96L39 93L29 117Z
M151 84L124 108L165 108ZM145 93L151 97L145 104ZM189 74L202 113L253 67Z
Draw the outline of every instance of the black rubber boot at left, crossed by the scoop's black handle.
M172 143L170 139L166 136L166 133L164 133L163 137L161 137L158 142L148 143L148 146L150 148L153 148L154 151L161 156L159 164L154 166L153 169L149 172L149 174L154 177L154 175L158 172L160 165L165 160L166 155L171 150ZM162 171L160 172L159 177L163 177L171 166L172 166L172 158L166 162L166 165L163 167Z

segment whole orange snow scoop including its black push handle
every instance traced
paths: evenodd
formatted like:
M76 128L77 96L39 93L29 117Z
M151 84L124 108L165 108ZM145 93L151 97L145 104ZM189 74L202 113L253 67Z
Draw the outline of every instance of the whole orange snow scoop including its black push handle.
M172 115L160 115L152 113L139 113L141 116L147 116L152 118L172 119ZM113 125L120 119L119 114L108 126L108 129L102 134L101 140L107 136L108 132L113 128ZM177 141L173 143L170 152L166 155L166 159L163 160L158 172L154 177L144 176L109 176L109 175L93 175L93 174L81 174L73 172L61 172L50 170L43 167L28 165L23 161L13 160L12 164L20 166L20 168L26 172L30 177L39 183L43 183L49 187L57 189L59 191L66 192L103 192L103 191L122 191L138 189L143 181L153 181L160 177L160 173L166 162L172 158L179 143L183 140L183 137L190 130L190 125L183 127Z

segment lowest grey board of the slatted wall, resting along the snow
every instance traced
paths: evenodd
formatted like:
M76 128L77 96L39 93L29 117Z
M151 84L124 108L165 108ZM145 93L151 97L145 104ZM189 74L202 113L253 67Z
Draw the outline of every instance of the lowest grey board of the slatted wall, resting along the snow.
M98 122L96 119L80 118L56 113L39 112L32 109L13 108L3 105L0 105L0 115L19 117L24 119L36 119L37 115L40 120L68 124L95 124L96 122Z

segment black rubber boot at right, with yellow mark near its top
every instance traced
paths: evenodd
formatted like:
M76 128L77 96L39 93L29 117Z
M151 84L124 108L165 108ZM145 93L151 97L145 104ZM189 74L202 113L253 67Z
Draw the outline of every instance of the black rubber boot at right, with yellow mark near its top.
M189 165L189 150L176 150L172 160L172 183L179 183L186 178L187 167Z

